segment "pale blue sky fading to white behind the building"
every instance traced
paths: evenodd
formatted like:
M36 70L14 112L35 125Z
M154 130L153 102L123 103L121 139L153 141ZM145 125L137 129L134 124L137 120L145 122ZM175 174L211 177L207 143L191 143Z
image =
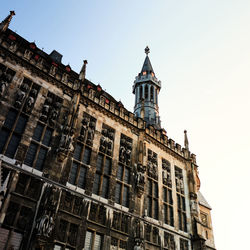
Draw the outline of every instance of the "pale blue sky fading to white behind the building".
M79 72L133 112L144 48L162 82L169 138L197 155L218 250L246 249L250 182L249 0L0 0L10 28ZM247 210L243 210L244 207ZM244 212L245 211L245 212Z

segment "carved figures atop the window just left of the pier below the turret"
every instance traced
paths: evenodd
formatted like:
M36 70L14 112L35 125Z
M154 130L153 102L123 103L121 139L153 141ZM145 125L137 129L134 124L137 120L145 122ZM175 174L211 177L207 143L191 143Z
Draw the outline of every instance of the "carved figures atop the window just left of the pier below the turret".
M132 139L123 135L120 141L119 161L130 165L132 152Z

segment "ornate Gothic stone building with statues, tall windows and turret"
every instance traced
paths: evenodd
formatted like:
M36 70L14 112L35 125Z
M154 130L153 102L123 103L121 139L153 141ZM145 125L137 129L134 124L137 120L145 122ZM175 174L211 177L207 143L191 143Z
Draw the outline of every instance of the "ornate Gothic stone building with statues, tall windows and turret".
M0 249L215 249L196 157L161 127L146 59L134 113L0 24Z

